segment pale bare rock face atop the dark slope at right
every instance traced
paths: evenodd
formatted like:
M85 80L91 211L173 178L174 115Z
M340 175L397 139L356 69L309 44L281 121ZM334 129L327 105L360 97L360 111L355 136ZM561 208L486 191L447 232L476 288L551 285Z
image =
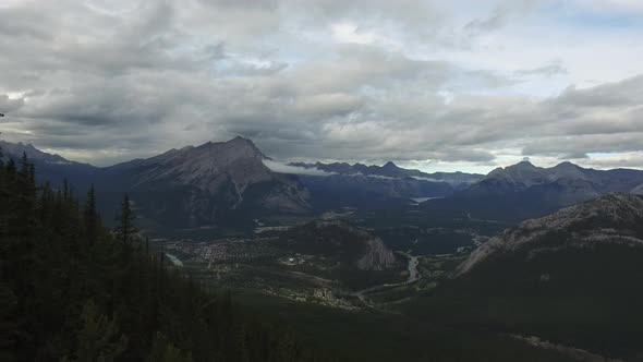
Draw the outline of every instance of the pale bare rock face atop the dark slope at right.
M539 254L587 250L600 244L643 248L643 196L611 193L524 221L480 246L459 266L458 273L466 274L480 265L518 254L535 258Z

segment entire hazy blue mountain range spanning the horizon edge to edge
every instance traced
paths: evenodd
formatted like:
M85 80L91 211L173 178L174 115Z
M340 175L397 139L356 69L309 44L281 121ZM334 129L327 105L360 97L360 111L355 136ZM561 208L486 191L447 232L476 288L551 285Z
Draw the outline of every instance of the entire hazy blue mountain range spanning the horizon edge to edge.
M517 222L609 192L643 192L641 170L603 171L571 162L541 168L522 161L487 176L426 173L393 162L293 162L288 165L292 173L283 173L271 169L271 159L243 137L170 149L105 168L70 161L22 143L1 142L0 147L14 158L26 153L36 164L40 182L60 184L66 178L78 190L94 183L106 212L116 209L122 193L129 192L147 219L171 227L407 204L414 197L437 198L422 204L426 217Z

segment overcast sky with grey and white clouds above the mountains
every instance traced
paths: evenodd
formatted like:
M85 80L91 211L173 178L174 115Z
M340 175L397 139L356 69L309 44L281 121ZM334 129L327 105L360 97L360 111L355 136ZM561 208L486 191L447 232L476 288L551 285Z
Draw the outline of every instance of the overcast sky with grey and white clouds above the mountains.
M0 0L2 137L98 166L643 168L640 0Z

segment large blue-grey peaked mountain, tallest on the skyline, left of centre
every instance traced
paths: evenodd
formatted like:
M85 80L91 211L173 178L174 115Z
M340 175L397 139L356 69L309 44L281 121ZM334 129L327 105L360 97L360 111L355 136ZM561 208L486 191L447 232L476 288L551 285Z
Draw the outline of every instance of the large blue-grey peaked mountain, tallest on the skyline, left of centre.
M100 189L128 191L153 219L192 227L230 214L310 212L306 188L265 159L247 138L208 142L106 168Z

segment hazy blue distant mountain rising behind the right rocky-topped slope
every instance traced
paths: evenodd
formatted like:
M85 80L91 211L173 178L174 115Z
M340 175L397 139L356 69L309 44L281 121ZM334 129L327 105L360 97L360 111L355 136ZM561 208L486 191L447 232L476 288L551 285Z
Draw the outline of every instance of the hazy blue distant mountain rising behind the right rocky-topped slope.
M470 188L423 206L469 218L521 221L609 192L630 192L643 183L643 171L594 170L571 162L551 168L522 161L489 172Z

